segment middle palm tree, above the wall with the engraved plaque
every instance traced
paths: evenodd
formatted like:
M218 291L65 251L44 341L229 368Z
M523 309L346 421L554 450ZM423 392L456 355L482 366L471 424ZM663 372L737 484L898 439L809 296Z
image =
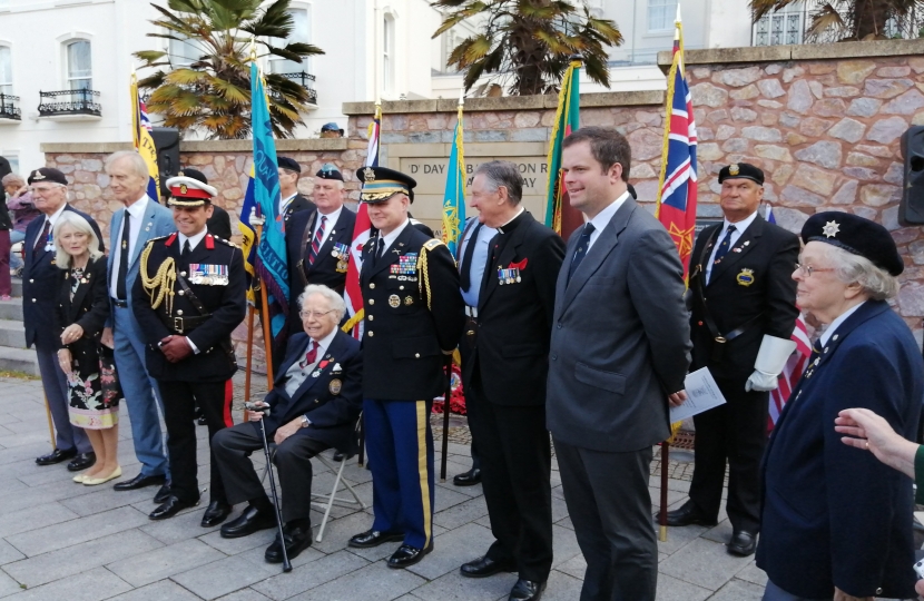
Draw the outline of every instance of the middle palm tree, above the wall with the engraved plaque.
M465 19L483 21L446 61L465 72L466 91L495 73L479 93L498 89L495 80L508 83L511 95L556 92L573 55L581 55L590 79L609 88L606 48L621 45L622 33L586 6L580 11L566 0L434 0L431 6L449 9L434 38Z

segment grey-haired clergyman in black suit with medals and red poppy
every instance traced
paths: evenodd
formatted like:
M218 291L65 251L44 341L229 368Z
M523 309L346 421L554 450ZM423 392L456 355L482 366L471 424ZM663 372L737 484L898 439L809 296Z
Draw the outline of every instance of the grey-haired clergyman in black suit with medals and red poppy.
M497 540L461 573L519 572L510 600L534 601L552 568L545 378L564 243L520 205L522 193L522 176L512 162L494 160L475 171L472 206L498 235L488 248L474 333L466 331L460 344L471 344L462 378Z

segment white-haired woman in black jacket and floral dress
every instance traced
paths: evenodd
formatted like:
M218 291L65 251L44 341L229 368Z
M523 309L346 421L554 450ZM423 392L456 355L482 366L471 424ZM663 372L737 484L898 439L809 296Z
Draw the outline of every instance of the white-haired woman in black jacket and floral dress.
M117 463L119 397L112 349L100 343L109 315L106 257L90 224L63 211L52 234L61 269L55 319L61 336L58 363L68 376L70 423L90 437L96 464L73 481L87 486L121 475Z

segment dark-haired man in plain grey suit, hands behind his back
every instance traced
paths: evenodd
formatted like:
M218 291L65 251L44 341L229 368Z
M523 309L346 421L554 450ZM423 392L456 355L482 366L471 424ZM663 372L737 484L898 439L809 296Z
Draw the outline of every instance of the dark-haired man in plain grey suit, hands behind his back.
M690 356L684 268L670 235L627 190L631 150L602 127L564 139L572 207L556 288L548 424L587 560L581 601L652 601L658 549L651 446L670 435Z

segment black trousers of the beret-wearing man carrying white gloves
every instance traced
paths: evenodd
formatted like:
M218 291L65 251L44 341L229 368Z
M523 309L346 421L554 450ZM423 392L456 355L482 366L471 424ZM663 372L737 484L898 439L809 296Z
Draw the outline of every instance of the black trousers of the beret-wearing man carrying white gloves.
M690 500L706 518L718 518L725 463L731 528L760 531L760 460L767 445L769 393L745 392L743 380L718 380L726 403L694 416L696 463Z

